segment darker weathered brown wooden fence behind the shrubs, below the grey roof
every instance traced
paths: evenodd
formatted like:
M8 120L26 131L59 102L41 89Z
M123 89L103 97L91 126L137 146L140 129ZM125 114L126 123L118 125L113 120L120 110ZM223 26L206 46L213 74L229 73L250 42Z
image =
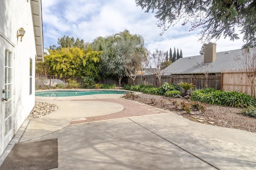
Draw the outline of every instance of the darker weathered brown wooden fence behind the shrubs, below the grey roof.
M220 76L208 76L208 87L216 90L220 89ZM135 85L144 84L160 87L164 82L178 84L180 82L189 82L195 85L195 89L203 89L206 86L206 76L203 75L168 75L162 76L161 84L157 76L137 76ZM128 84L133 84L133 80L128 78Z

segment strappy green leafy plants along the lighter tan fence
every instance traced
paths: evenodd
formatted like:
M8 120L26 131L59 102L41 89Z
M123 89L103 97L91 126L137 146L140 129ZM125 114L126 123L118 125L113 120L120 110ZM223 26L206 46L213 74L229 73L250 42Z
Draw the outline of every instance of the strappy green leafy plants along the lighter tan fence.
M256 99L244 93L236 91L221 91L213 88L194 90L191 100L207 104L224 105L231 107L254 107Z

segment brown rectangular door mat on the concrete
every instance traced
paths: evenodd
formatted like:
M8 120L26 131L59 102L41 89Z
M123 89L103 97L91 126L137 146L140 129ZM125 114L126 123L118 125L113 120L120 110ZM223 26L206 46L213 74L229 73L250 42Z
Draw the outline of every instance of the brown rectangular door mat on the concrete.
M16 143L0 170L48 170L58 167L58 139Z

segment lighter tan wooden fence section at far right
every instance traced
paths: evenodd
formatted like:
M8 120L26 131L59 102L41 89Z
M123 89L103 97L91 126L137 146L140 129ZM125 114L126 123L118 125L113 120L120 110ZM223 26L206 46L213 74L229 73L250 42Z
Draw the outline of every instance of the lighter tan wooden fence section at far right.
M222 83L221 89L225 91L238 91L245 94L251 95L251 86L249 83L248 76L246 72L241 69L233 70L222 70L221 73ZM255 80L254 80L254 90L255 90ZM255 94L252 93L252 96L255 97Z

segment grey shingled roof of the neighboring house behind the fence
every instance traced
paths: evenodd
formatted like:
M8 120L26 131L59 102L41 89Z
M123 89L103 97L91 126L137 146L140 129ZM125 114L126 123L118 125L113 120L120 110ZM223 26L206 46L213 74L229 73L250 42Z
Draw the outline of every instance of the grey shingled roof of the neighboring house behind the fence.
M164 69L164 75L170 74L202 74L221 73L221 70L240 69L241 62L238 61L242 56L243 50L231 50L216 53L216 60L212 63L204 63L204 55L180 58Z

